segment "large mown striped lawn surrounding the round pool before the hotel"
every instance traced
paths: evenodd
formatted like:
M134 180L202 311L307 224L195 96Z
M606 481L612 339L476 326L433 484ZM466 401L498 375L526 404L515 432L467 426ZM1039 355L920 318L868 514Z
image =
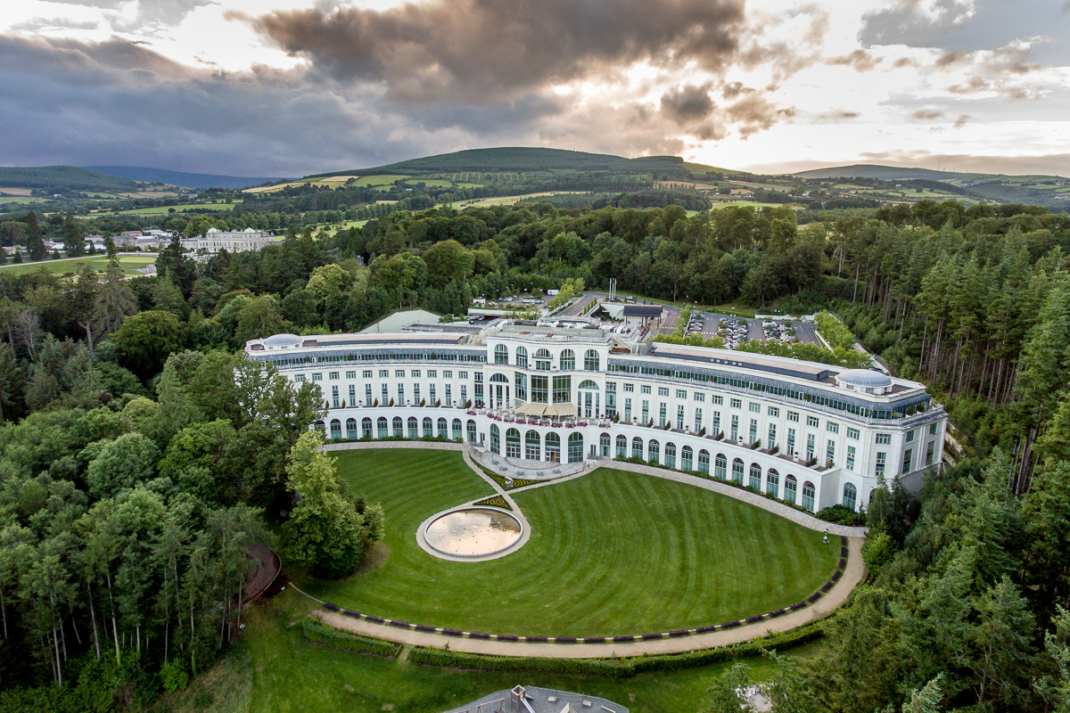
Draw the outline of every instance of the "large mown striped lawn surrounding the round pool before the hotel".
M612 636L715 624L805 599L836 569L822 534L689 485L599 469L516 495L531 541L489 562L416 544L431 514L490 495L457 452L345 451L354 492L382 501L389 558L317 596L381 617L464 631Z

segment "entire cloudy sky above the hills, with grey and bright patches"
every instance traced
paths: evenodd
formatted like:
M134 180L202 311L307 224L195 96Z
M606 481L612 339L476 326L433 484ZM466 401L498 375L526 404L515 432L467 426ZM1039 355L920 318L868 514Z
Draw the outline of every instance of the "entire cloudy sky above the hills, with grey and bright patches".
M0 0L0 165L1070 173L1070 0Z

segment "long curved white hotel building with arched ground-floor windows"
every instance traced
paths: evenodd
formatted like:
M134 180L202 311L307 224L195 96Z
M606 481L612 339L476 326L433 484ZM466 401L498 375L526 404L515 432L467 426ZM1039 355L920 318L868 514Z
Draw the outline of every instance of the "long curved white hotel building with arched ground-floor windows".
M521 465L641 458L812 511L865 506L881 475L916 484L947 424L915 382L599 326L276 335L245 353L315 382L331 438L462 439Z

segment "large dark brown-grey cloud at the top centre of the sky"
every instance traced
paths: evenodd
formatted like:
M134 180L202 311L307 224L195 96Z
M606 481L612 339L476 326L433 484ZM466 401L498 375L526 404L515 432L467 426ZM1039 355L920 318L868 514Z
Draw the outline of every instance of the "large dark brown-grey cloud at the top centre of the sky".
M721 73L739 51L744 0L430 0L385 11L245 18L338 79L383 81L410 102L492 103L648 61Z

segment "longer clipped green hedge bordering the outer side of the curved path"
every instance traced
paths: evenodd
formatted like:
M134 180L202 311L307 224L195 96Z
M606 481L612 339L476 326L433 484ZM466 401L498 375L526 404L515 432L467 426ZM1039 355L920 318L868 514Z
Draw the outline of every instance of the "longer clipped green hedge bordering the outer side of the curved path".
M483 671L529 670L550 673L591 673L609 678L629 678L647 671L672 671L736 658L758 656L768 649L784 650L808 644L823 636L821 622L812 622L790 632L774 634L716 649L677 654L633 656L630 658L544 658L538 656L492 656L443 649L416 648L409 661L428 666Z

